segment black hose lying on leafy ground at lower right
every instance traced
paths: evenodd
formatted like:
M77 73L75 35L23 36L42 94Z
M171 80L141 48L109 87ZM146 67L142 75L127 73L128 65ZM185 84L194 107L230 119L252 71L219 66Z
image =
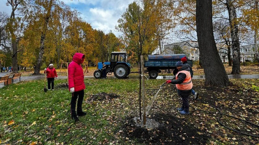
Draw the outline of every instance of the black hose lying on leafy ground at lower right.
M199 100L199 99L197 99L196 101L202 102L202 103L204 103L204 104L208 104L208 103L206 103L206 102L204 102L204 101L201 101L201 100ZM196 108L194 108L194 107L192 107L192 106L190 106L190 107L193 108L193 109L195 109L195 110L201 111L201 112L206 112L206 113L211 113L211 114L220 114L220 116L218 117L218 122L219 122L220 125L226 127L226 128L229 129L229 130L232 130L232 131L234 131L234 132L238 132L238 133L243 134L243 135L253 136L253 137L259 138L259 135L254 135L254 134L248 134L248 133L240 132L240 131L238 131L238 130L234 130L234 129L228 127L227 125L223 124L223 123L220 121L220 118L221 118L223 115L226 115L226 116L228 116L228 117L232 117L232 118L241 120L241 121L243 121L243 122L252 124L252 125L254 125L254 126L258 127L258 128L259 128L259 125L254 124L254 123L252 123L252 122L249 122L249 121L247 121L247 120L244 120L244 119L241 119L241 118L232 116L232 115L228 115L228 114L222 113L217 107L215 107L215 106L213 106L213 105L211 105L211 104L208 104L208 105L211 106L211 107L213 107L214 109L218 110L218 112L200 110L200 109L196 109Z

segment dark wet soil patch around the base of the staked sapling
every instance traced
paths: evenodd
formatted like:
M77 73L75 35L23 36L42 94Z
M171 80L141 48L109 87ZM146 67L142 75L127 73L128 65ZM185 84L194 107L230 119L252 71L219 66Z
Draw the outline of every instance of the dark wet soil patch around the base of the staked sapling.
M145 144L206 144L208 136L189 124L186 119L171 114L155 114L150 117L159 123L157 128L137 126L134 118L126 119L126 136Z

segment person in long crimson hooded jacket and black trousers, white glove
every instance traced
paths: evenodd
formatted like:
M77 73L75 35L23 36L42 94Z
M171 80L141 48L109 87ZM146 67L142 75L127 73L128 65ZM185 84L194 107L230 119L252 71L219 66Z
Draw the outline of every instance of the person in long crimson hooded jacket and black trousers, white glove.
M76 116L76 100L77 101L77 115L85 116L86 113L82 110L82 103L84 99L84 73L81 64L84 62L85 55L82 53L75 53L73 61L68 66L68 89L72 93L71 98L71 117L75 121L79 121Z

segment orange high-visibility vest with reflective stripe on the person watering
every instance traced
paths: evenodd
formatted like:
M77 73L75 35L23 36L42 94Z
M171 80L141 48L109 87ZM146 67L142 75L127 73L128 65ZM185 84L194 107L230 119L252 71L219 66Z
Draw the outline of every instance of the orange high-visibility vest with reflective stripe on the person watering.
M176 74L175 79L178 79L178 74L179 73L184 73L186 75L186 77L185 77L184 81L181 84L176 84L176 88L178 90L191 90L192 89L192 78L191 78L190 72L186 71L186 70L179 71Z

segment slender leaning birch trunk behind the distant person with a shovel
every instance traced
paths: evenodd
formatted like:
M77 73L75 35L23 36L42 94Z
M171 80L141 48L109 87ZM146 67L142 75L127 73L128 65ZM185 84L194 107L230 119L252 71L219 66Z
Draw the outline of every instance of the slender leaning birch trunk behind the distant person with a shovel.
M43 30L41 32L40 52L39 52L39 56L38 56L38 59L37 59L37 64L36 64L35 69L34 69L34 73L33 73L34 75L39 75L40 74L40 67L41 67L41 63L42 63L41 61L42 61L43 54L44 54L44 41L45 41L45 37L46 37L48 21L49 21L49 18L51 17L52 3L53 3L53 0L51 0L49 2L49 6L48 6L45 22L44 22L44 25L43 25Z

